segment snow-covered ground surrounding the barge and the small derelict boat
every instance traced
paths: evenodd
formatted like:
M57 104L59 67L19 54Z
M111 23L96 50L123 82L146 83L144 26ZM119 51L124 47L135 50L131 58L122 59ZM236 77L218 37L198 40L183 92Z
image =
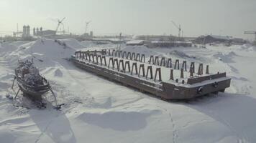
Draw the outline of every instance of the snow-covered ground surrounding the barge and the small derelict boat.
M1 142L256 142L256 47L206 46L201 48L126 51L186 59L210 65L211 72L227 71L232 86L225 93L188 102L165 102L134 89L109 82L66 60L78 49L97 45L74 39L62 46L47 39L0 44ZM116 45L100 45L114 49ZM35 65L52 85L61 111L40 110L10 88L18 59L34 57ZM17 86L14 88L17 91Z

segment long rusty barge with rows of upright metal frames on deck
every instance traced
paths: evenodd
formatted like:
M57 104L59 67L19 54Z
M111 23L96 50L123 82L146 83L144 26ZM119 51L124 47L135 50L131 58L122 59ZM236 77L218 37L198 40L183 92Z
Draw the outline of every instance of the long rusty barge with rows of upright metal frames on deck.
M191 62L187 69L186 61L181 64L176 59L172 63L172 59L150 56L146 62L145 54L127 51L76 51L70 61L81 69L162 99L191 99L211 93L217 94L224 92L231 82L226 73L209 74L208 65L205 74L203 64L198 64L198 72L195 73L194 62ZM161 69L170 73L165 74L165 79Z

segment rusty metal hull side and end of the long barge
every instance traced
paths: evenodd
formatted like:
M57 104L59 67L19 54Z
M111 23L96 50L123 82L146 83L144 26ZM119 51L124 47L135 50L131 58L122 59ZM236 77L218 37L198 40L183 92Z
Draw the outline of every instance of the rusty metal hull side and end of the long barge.
M162 99L191 99L206 94L224 92L230 86L231 81L230 78L226 77L226 74L216 74L212 76L215 76L216 79L191 85L171 82L152 82L152 80L137 78L123 71L116 71L90 61L77 59L76 56L72 56L70 61L81 69L98 74L111 81L119 82L125 86L134 87L135 89L139 89L140 92L148 92ZM218 84L217 87L215 86L216 83Z

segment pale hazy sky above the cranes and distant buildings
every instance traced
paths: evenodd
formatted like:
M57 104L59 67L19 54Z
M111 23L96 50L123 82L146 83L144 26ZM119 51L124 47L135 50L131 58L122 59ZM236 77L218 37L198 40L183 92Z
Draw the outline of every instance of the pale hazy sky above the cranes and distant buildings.
M24 24L55 29L52 19L66 17L65 28L81 34L85 21L95 34L178 34L170 22L181 24L184 36L202 34L244 38L256 31L256 0L0 0L0 31Z

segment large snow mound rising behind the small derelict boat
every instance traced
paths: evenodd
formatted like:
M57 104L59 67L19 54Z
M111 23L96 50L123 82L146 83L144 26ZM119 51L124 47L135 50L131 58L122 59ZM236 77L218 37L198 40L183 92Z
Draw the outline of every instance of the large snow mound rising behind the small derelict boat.
M55 66L56 64L62 63L65 58L69 58L76 51L72 43L70 41L69 46L63 46L52 39L32 41L19 46L18 49L6 56L6 59L9 59L9 64L12 67L17 66L18 59L24 60L31 58L33 58L35 66ZM74 45L76 46L76 44Z

